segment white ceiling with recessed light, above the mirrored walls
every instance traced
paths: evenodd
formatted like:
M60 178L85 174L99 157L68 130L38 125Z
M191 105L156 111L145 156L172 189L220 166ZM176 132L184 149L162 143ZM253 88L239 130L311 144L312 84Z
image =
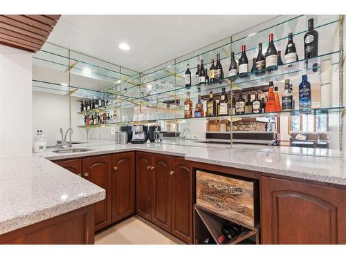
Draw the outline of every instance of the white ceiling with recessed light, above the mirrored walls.
M48 41L142 72L274 15L62 15ZM120 50L126 42L130 50Z

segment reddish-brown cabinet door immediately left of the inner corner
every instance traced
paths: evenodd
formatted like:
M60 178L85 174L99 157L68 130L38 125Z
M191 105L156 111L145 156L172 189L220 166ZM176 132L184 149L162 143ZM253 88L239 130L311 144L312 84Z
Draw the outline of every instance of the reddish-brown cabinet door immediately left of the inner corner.
M112 222L134 213L134 152L112 155Z

